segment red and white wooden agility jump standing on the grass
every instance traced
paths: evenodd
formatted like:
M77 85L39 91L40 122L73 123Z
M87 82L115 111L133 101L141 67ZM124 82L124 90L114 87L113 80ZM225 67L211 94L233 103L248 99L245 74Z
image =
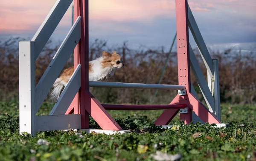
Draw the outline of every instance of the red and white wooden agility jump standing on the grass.
M19 42L19 110L20 134L35 136L37 131L88 129L89 115L102 130L122 128L107 110L163 110L156 125L167 125L180 112L185 124L194 121L220 124L218 60L211 58L187 0L176 0L178 85L156 85L89 81L88 0L74 0L75 22L61 43L44 75L35 85L35 60L49 40L73 0L57 0L31 41ZM207 68L207 80L189 44L189 28ZM47 116L36 116L65 62L74 51L74 72ZM190 68L207 103L197 98L191 84ZM101 104L89 87L143 88L177 90L169 105L108 105ZM214 96L214 97L213 97Z

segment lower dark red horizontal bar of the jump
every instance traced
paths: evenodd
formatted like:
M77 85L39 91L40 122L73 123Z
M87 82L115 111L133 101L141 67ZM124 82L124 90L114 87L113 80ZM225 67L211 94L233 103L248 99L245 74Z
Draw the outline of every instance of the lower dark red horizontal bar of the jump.
M186 104L177 105L111 105L102 104L105 110L164 110L186 108Z

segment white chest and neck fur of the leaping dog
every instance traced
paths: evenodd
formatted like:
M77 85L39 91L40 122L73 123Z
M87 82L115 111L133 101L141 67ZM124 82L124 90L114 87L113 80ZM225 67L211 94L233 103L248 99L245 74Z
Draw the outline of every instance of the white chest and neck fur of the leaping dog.
M113 67L105 67L102 69L100 62L102 58L90 61L92 64L92 72L89 72L89 81L101 81L103 79L109 79L114 75L116 69Z

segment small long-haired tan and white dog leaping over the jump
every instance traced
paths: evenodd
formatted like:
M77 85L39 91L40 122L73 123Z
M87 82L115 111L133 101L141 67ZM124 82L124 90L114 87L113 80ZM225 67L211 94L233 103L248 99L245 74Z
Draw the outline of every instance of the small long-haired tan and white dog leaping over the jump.
M102 57L89 62L89 81L108 80L114 75L116 68L123 68L122 57L113 51L112 54L103 51ZM65 69L53 84L53 90L50 98L58 100L61 91L67 86L67 83L74 72L74 67Z

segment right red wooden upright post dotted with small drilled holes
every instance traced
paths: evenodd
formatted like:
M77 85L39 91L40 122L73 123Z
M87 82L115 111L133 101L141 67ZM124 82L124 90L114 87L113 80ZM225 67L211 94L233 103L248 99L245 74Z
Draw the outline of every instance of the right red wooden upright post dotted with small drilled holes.
M185 85L186 92L189 93L191 92L191 81L189 59L189 23L187 7L187 0L176 0L178 78L179 85ZM186 103L189 107L188 95L182 97L182 103ZM184 120L185 124L189 124L192 121L192 111L188 108L188 113L180 114L180 119Z

